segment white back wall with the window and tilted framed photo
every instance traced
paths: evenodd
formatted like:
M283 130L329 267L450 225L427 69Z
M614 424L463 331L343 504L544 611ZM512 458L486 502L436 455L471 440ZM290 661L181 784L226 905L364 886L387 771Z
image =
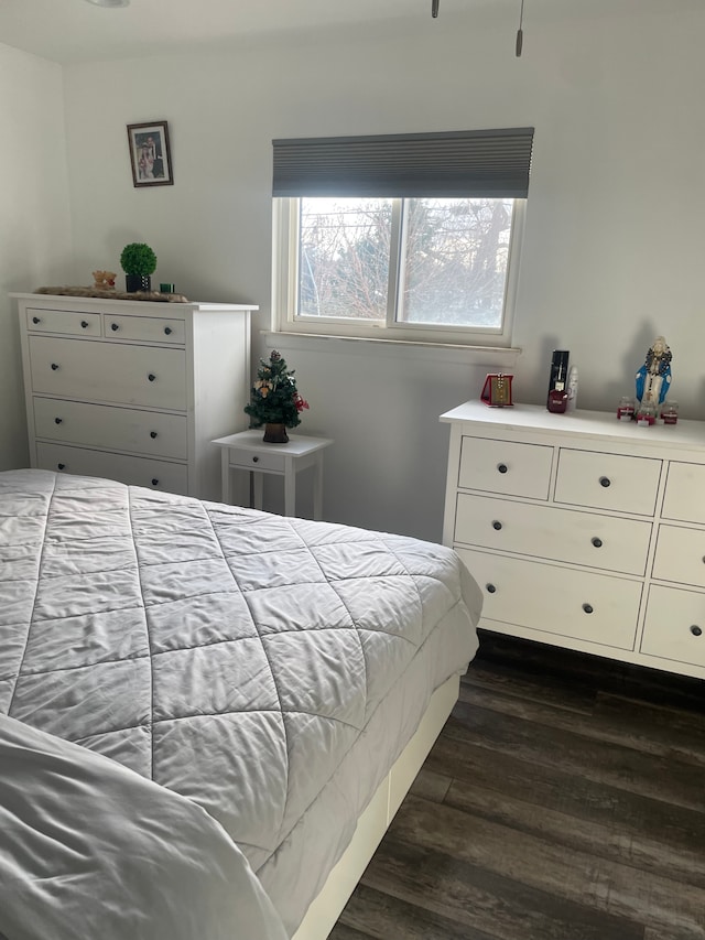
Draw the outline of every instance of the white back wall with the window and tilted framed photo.
M561 17L561 4L552 4ZM589 4L584 4L589 8ZM423 28L66 69L75 268L117 270L149 241L155 280L192 299L249 301L269 322L271 140L535 127L514 391L545 395L551 350L572 350L579 406L611 410L658 333L673 395L705 418L701 366L705 212L699 37L705 11L525 23L442 15ZM124 126L167 119L175 185L134 190ZM254 358L271 348L256 334ZM361 344L284 344L328 433L328 518L438 539L447 428L487 366Z

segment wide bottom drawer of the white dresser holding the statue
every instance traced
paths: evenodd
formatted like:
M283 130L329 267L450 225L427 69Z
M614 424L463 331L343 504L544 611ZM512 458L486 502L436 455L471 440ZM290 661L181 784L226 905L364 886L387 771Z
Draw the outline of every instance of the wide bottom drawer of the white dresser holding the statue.
M467 549L457 552L482 588L480 626L492 629L497 622L633 649L640 582Z

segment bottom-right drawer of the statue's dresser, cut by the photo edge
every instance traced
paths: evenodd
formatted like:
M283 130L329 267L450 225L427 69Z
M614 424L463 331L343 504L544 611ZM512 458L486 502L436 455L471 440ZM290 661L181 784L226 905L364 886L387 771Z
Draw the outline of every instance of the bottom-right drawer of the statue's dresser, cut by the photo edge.
M640 649L705 667L705 594L651 585Z

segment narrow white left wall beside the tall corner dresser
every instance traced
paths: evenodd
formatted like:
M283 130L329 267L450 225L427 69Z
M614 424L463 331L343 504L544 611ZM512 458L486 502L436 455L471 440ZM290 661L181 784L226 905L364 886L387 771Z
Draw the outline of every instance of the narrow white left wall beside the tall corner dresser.
M62 69L0 44L0 469L26 466L17 313L8 293L61 283L70 258Z

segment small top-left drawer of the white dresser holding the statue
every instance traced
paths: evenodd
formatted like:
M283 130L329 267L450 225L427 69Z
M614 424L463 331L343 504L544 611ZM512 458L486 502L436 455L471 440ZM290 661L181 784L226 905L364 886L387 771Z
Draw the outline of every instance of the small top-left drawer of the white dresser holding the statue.
M463 436L458 486L547 499L553 447Z

